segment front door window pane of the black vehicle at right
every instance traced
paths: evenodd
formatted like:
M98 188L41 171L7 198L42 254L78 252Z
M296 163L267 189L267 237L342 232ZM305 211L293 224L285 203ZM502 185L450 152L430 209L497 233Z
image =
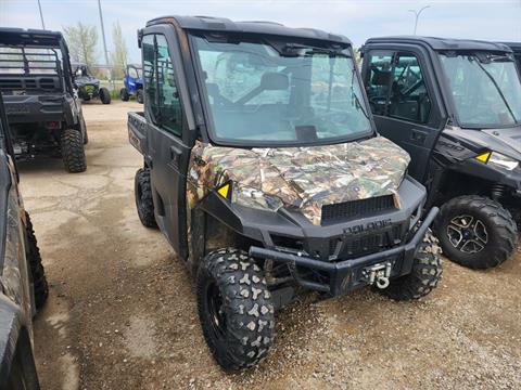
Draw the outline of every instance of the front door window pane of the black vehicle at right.
M393 70L389 116L427 123L430 112L431 100L418 57L398 53Z

